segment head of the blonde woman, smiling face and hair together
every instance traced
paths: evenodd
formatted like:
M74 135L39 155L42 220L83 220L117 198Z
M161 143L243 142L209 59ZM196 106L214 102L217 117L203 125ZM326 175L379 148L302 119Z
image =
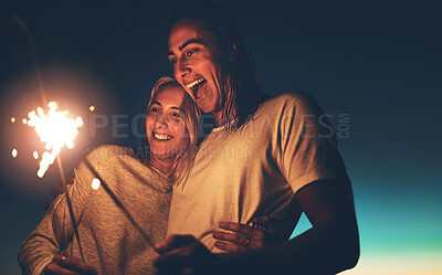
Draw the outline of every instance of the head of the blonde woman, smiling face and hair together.
M199 113L197 104L172 77L161 77L155 84L146 110L145 161L170 173L177 183L186 179L193 162Z

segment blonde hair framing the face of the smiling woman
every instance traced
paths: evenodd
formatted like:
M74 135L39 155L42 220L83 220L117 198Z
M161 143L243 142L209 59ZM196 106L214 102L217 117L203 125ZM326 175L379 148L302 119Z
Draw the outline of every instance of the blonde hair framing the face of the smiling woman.
M164 76L157 81L157 83L154 85L150 94L150 99L147 105L146 115L143 123L144 133L146 133L147 114L150 110L150 106L154 99L162 88L169 85L182 88L175 78L169 76ZM189 148L186 151L178 154L176 159L173 160L171 173L169 174L169 181L173 184L180 184L181 182L185 182L187 180L190 169L193 166L194 156L197 155L198 121L200 117L200 110L193 99L186 92L185 96L182 97L180 109L182 110L182 120L185 123L186 130L189 134L190 140ZM149 162L150 146L147 138L144 138L141 140L141 146L145 149L144 151L146 152L144 154L141 159L144 162Z

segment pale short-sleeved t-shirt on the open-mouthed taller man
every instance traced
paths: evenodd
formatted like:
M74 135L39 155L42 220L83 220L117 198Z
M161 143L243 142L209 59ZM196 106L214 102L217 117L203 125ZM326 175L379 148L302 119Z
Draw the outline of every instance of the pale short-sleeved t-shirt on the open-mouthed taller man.
M283 94L264 102L243 128L214 128L187 182L173 187L168 235L192 234L220 252L211 235L220 221L298 219L297 190L319 179L347 179L322 115L312 97Z

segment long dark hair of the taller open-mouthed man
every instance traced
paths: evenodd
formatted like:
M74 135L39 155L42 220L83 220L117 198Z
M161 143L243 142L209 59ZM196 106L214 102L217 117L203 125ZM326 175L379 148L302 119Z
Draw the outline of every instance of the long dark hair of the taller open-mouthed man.
M234 19L220 6L208 2L185 3L172 13L168 30L181 21L193 21L214 36L219 50L218 77L224 96L223 121L239 128L249 121L269 96L261 93L252 59ZM236 114L235 117L229 115ZM231 120L238 119L235 124Z

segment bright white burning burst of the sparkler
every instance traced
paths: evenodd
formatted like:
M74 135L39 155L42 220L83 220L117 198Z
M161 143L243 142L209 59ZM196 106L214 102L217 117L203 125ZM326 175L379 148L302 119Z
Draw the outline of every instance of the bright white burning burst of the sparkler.
M78 127L83 126L83 119L76 117L69 118L67 110L59 112L57 104L51 102L48 104L48 115L43 108L39 107L28 114L28 126L35 127L35 131L42 142L45 142L46 151L42 155L38 176L42 178L50 165L52 165L65 145L72 149L74 147L73 139L78 135ZM24 119L23 119L24 120ZM34 155L35 158L35 155Z

